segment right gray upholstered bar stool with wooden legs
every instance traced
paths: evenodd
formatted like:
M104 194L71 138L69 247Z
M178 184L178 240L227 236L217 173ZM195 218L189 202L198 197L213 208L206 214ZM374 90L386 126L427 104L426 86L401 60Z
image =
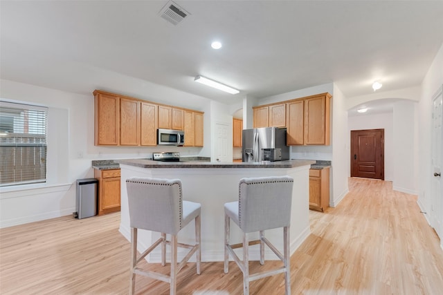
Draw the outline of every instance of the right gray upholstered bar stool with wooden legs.
M224 204L224 272L228 273L229 254L243 272L243 294L249 294L249 282L284 273L286 295L291 294L291 268L289 266L289 227L293 179L289 176L242 178L239 182L239 200ZM230 220L243 231L242 244L229 244ZM264 237L266 229L283 228L284 254ZM260 240L249 241L248 234L260 231ZM283 262L283 267L267 272L249 274L248 246L260 243L260 264L264 264L264 244ZM235 248L243 247L243 261L235 254Z

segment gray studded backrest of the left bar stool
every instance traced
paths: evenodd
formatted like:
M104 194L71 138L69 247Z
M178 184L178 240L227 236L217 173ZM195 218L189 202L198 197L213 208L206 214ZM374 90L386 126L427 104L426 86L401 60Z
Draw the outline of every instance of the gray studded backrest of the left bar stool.
M130 226L177 234L181 229L181 180L128 178L126 180Z

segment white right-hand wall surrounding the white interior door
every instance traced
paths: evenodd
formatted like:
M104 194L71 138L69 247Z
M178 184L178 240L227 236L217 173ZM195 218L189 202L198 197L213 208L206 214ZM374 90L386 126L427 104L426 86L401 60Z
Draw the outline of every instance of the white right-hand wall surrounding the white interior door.
M433 169L431 166L431 130L432 130L432 97L439 87L443 84L443 45L440 47L431 67L422 83L422 93L418 106L418 204L431 226L435 227L435 211L433 207L437 206L436 200L431 198L431 179L433 178ZM443 196L443 193L442 193ZM440 237L443 247L443 237Z

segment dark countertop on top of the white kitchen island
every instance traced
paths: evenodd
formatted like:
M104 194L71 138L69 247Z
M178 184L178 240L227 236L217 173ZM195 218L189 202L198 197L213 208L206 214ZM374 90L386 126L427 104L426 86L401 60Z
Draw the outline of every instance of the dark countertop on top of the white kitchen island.
M120 164L141 168L295 168L314 164L314 160L288 160L278 162L159 162L145 159L114 160Z

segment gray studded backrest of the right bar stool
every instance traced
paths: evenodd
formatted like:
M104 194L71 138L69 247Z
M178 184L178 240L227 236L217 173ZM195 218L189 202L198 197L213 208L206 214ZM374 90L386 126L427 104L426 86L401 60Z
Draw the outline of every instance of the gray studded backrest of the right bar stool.
M293 179L289 176L242 178L239 227L245 233L291 224Z

